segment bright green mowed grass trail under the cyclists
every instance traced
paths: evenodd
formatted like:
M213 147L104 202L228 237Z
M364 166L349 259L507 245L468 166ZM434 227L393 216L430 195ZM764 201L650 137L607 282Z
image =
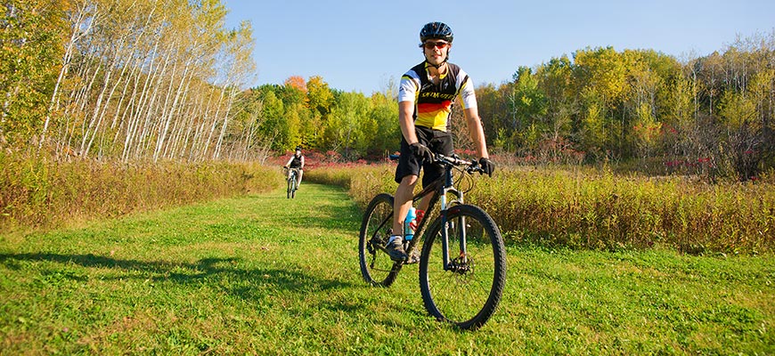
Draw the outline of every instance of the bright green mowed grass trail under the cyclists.
M427 316L416 265L365 285L360 218L304 183L0 233L0 354L775 353L771 256L509 246L501 308L461 332Z

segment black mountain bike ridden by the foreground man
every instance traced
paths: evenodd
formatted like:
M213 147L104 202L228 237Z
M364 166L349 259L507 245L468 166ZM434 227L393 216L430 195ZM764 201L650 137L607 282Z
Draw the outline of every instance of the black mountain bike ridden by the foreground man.
M411 254L423 240L420 292L428 313L458 328L477 329L493 316L506 283L501 231L480 207L463 204L463 191L455 188L453 171L459 172L457 183L467 176L473 187L471 175L483 172L478 163L443 155L436 155L434 162L444 166L445 173L413 196L415 204L433 194L425 218L413 239L404 239L404 248ZM393 199L390 194L378 194L363 214L358 255L363 279L372 286L390 287L408 262L391 260L385 248L393 234ZM439 211L425 231L436 203ZM458 251L453 252L454 247Z

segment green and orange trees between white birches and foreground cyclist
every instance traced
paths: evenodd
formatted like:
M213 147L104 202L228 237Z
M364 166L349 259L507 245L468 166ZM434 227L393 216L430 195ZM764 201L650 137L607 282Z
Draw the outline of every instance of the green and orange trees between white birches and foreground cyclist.
M371 96L332 89L314 76L289 77L239 95L236 122L252 126L265 150L335 152L345 159L377 158L395 151L401 134L395 85Z

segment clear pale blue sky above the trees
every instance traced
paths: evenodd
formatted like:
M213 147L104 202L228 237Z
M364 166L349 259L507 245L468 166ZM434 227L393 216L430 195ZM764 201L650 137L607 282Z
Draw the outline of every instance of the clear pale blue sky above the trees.
M371 94L422 61L423 24L455 35L450 61L477 85L509 81L587 46L653 49L683 60L723 52L739 36L775 30L775 0L405 1L224 0L226 26L252 23L257 80L321 76L331 88Z

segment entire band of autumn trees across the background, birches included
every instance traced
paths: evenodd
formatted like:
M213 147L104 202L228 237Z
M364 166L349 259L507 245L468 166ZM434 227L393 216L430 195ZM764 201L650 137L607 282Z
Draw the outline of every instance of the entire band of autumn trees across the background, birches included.
M9 0L2 10L4 150L201 161L296 145L349 159L397 149L395 82L368 96L318 76L243 89L255 72L252 29L225 28L219 0ZM584 48L478 86L479 111L502 157L746 180L775 166L773 50L775 32L683 61ZM453 116L464 143L461 110Z

